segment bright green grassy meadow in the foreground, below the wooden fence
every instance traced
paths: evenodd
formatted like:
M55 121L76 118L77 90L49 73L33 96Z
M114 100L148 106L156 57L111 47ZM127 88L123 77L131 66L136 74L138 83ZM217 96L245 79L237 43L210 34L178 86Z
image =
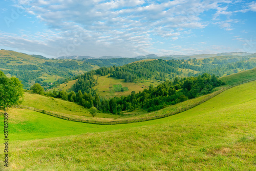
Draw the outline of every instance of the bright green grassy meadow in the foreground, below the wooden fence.
M239 85L188 111L134 124L82 124L11 109L9 168L255 170L255 85Z

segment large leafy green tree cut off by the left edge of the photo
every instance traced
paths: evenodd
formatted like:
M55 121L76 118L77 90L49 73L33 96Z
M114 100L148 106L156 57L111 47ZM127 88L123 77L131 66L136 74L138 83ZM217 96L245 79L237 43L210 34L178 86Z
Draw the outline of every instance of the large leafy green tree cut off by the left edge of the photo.
M5 113L9 106L22 103L20 97L23 96L23 84L15 77L7 78L0 71L0 106L5 108Z

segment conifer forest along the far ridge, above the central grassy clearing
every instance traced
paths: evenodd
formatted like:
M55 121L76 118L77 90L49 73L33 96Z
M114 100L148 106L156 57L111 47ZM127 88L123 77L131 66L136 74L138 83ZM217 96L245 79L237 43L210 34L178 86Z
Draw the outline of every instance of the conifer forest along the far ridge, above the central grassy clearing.
M94 75L106 76L124 79L125 82L139 82L144 79L155 79L160 81L173 80L177 76L197 77L205 72L210 75L221 77L224 74L229 75L237 73L239 69L251 69L256 67L255 61L248 61L247 58L232 59L210 59L203 60L153 60L131 63L123 66L101 67L78 76L78 81L74 87L76 92L95 94L93 89L98 84ZM191 70L187 74L182 69Z

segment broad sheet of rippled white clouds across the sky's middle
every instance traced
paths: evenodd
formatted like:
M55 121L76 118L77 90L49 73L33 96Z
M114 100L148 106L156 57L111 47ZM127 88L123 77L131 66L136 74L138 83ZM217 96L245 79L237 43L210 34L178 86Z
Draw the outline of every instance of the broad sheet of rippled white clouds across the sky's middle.
M188 34L193 37L195 29L203 29L212 23L226 31L233 30L233 23L238 20L220 20L220 16L230 17L233 13L248 11L239 9L232 12L229 5L238 2L226 0L17 1L18 6L26 5L26 12L45 23L49 30L33 35L27 32L12 36L0 34L1 40L8 39L0 44L9 43L20 48L36 49L53 56L57 56L63 48L71 49L74 39L77 38L81 42L75 45L74 51L68 52L71 55L144 55L150 53L154 44L158 44L154 42L162 43L166 39L180 41ZM255 3L247 6L254 10ZM204 12L207 11L216 11L212 17L218 19L218 22L204 19ZM32 44L34 47L29 46Z

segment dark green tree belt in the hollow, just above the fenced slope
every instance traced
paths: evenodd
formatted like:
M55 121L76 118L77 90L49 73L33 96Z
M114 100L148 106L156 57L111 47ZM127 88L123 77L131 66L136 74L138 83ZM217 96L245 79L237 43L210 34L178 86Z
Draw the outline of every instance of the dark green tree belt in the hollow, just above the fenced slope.
M151 85L149 89L144 89L142 92L135 93L135 91L132 91L130 95L113 97L111 99L104 99L95 91L95 94L92 94L91 92L82 93L81 90L77 93L74 91L68 93L63 90L56 92L54 89L53 92L47 92L47 95L76 102L88 109L95 107L103 113L120 115L122 111L130 111L137 108L147 109L148 112L159 110L168 105L175 105L188 99L208 94L214 87L223 84L215 75L210 76L205 73L197 77L181 79L176 77L173 82L165 81L156 87ZM37 86L40 87L40 85ZM34 87L32 90L38 93L38 91L34 91ZM41 90L40 92L43 93L44 91Z

